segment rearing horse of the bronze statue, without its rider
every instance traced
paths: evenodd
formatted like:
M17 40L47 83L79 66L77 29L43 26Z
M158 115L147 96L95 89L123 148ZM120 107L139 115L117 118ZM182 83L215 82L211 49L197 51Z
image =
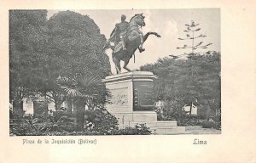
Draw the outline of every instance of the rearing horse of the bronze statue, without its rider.
M143 32L140 31L139 28L145 26L143 14L135 14L130 22L129 27L127 29L127 33L125 36L125 45L126 50L123 49L122 43L119 42L116 46L112 47L109 43L106 43L103 49L111 48L113 50L112 58L115 68L117 70L117 74L121 71L120 61L123 60L125 62L124 69L131 71L127 68L129 61L134 55L135 51L138 49L140 53L142 53L145 49L143 48L143 43L148 39L149 35L154 35L156 37L160 37L156 32L149 31L145 36L143 36Z

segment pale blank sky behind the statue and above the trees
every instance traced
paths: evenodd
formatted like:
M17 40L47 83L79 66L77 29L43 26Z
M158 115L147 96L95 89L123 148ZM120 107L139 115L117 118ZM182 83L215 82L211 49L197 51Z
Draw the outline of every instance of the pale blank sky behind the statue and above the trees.
M143 34L148 31L155 31L160 34L159 37L149 36L144 42L143 48L146 49L143 53L135 52L136 62L131 59L128 67L131 70L139 69L140 66L146 64L154 64L159 58L168 57L169 55L179 55L191 52L191 49L177 49L183 47L184 44L190 45L191 42L178 40L178 37L185 37L185 24L190 24L191 20L195 24L199 23L198 27L201 31L198 35L203 34L207 37L199 38L195 41L203 41L205 44L212 43L208 49L197 50L195 52L205 52L214 50L220 52L220 9L219 8L195 8L195 9L112 9L112 10L72 10L79 14L89 15L91 19L99 26L101 33L108 39L114 25L120 22L121 14L126 15L126 21L129 22L134 14L145 16L146 25L143 27ZM48 10L48 19L55 13L61 10ZM111 53L106 51L111 63L111 70L114 73ZM121 65L123 65L121 63ZM123 70L125 72L125 70Z

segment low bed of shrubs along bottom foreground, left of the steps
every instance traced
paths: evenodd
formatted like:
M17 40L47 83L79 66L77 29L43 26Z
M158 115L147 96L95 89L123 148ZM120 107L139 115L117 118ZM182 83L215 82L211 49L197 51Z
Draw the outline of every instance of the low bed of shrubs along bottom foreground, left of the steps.
M54 116L23 117L15 127L10 126L10 135L17 136L63 136L63 135L148 135L151 132L145 124L119 129L118 121L108 110L86 110L83 131L76 131L75 117L66 111L55 111Z

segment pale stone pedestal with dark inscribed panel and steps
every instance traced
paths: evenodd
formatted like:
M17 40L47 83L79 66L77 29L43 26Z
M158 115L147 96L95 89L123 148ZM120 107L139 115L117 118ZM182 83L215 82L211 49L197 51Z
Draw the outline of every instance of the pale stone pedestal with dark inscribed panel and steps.
M157 121L154 107L154 76L148 71L132 71L114 76L107 76L102 82L110 91L111 104L107 110L115 115L119 127L146 124L159 134L184 132L177 126L177 121Z

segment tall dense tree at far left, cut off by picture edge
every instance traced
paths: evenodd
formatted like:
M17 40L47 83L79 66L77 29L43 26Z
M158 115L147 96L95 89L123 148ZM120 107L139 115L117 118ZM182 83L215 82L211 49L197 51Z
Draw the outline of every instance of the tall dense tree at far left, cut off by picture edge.
M38 66L47 42L46 10L9 11L10 101L21 109L22 98L38 91L42 68Z

